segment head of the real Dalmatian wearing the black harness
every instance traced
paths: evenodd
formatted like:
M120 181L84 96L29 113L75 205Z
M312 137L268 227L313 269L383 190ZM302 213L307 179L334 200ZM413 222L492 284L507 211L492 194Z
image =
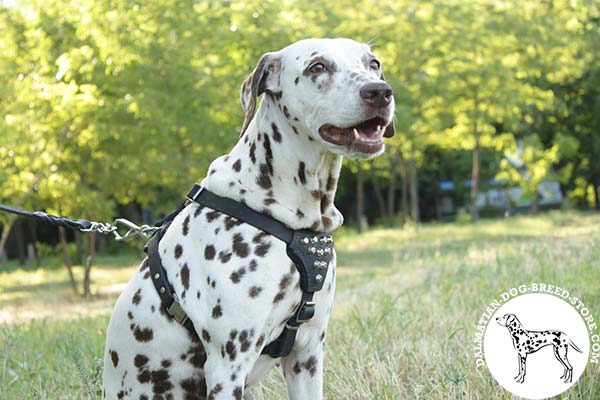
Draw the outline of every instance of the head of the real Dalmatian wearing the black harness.
M350 39L306 39L263 55L242 85L242 135L265 93L292 130L326 150L372 158L394 135L394 94L381 61Z

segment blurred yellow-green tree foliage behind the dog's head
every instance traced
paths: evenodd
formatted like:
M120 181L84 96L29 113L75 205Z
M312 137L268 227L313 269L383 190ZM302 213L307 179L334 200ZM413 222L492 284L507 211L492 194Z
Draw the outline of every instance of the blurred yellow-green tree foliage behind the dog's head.
M259 56L308 36L369 41L383 60L398 134L363 169L384 188L431 148L477 141L501 158L523 136L530 186L600 182L596 2L16 4L0 5L4 202L35 192L25 206L84 218L130 202L167 212L236 141L239 86Z

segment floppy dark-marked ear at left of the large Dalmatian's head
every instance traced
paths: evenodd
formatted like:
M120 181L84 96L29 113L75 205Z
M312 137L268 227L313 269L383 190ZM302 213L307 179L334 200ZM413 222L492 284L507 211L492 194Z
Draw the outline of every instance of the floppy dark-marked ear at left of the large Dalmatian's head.
M279 77L279 70L279 59L274 56L274 53L266 53L260 58L254 71L242 83L240 99L244 110L244 124L240 137L244 135L254 117L258 97L264 92L274 89L274 83L278 81L276 78Z

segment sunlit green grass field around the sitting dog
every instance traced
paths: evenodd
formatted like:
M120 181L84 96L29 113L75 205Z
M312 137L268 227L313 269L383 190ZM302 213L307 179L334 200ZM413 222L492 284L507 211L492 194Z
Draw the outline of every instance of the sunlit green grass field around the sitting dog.
M328 399L512 398L475 367L471 343L487 303L522 283L567 288L600 318L597 214L341 231L336 246ZM0 398L98 398L110 308L136 263L99 259L90 301L70 294L62 269L0 273ZM599 379L589 365L560 398L598 399ZM254 395L285 398L281 373L269 373Z

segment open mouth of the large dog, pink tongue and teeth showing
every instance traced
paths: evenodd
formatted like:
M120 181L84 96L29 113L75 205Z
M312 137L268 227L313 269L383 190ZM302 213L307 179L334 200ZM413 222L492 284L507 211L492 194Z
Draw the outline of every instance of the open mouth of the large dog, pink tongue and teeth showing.
M323 140L359 153L377 153L383 147L383 130L387 121L373 117L348 128L325 124L319 128Z

